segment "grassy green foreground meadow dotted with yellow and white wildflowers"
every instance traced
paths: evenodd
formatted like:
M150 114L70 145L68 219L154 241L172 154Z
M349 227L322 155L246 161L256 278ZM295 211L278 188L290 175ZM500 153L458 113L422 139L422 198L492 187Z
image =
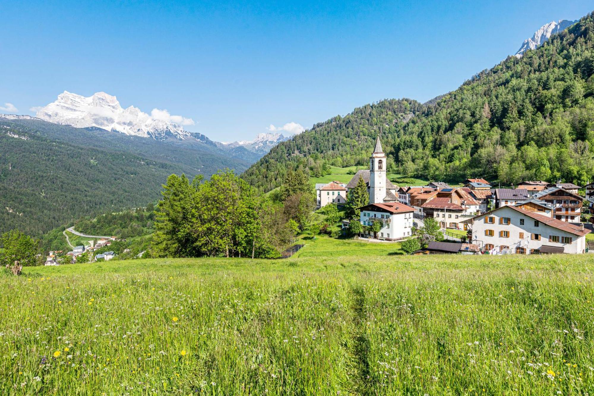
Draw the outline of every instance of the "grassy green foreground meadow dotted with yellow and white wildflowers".
M0 275L0 393L594 391L594 255L403 256L397 244L303 241L286 260Z

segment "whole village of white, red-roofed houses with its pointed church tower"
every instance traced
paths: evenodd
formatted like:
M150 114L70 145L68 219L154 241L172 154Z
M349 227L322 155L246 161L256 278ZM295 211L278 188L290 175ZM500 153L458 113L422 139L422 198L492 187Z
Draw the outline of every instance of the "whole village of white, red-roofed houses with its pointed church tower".
M316 184L318 208L343 206L362 178L369 204L359 208L364 226L381 222L378 232L364 230L370 241L401 241L434 218L446 241L432 241L416 254L535 254L586 253L586 234L592 225L580 222L582 208L593 211L594 184L586 197L573 183L523 181L516 188L493 188L484 178L469 178L463 187L438 181L427 186L398 187L387 178L387 156L380 137L369 169L356 172L349 183ZM585 204L584 204L585 202ZM343 223L347 227L349 221ZM457 232L453 232L457 231ZM462 231L462 232L460 232Z

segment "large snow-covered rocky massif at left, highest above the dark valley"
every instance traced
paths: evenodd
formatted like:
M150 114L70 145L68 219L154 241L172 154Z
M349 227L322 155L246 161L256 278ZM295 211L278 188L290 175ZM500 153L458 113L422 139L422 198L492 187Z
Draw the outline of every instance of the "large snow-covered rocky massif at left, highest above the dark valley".
M153 110L153 113L155 110ZM162 115L166 111L158 111ZM37 118L55 124L72 125L77 128L97 127L108 131L117 131L127 135L152 137L165 140L168 137L187 139L190 136L181 125L155 118L140 109L129 106L124 109L115 96L97 92L85 97L64 91L55 102L37 111ZM179 116L171 116L171 118ZM187 120L187 119L184 119Z

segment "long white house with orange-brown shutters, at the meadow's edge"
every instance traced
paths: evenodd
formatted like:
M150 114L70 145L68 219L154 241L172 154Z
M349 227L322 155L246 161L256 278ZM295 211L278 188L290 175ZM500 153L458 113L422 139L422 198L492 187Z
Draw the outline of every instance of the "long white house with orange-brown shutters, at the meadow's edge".
M583 225L569 224L540 213L501 206L469 219L472 243L491 254L584 253Z

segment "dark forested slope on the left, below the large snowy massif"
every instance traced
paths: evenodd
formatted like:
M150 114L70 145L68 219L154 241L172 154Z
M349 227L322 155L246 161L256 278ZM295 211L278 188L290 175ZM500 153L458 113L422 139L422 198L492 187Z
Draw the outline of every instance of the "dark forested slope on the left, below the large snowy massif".
M40 235L81 216L144 206L181 170L0 125L0 232Z

